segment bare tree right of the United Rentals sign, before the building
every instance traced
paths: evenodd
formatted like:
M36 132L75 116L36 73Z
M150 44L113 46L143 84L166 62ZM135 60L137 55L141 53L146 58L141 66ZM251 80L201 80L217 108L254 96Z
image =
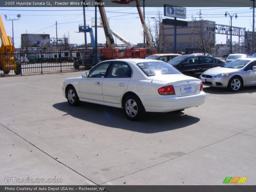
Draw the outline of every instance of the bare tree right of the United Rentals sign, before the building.
M215 25L207 24L204 22L201 10L197 13L199 20L193 18L193 29L192 29L192 45L203 50L205 53L212 53L212 49L215 47Z

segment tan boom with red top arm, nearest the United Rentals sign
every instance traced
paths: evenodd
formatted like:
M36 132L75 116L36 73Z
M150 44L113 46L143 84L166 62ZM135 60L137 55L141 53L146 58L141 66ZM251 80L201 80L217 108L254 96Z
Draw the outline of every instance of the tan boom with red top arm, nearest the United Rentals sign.
M145 23L142 11L140 9L139 1L138 0L112 0L111 2L112 3L117 3L117 4L129 4L133 1L136 2L136 7L137 7L137 10L138 10L138 13L139 13L139 16L140 16L140 21L141 21L141 24L143 26L143 32L145 33L145 36L146 36L147 48L152 48L152 42L151 42L151 39L150 39L150 36L149 36L149 33L148 33L148 28L147 28L147 25Z

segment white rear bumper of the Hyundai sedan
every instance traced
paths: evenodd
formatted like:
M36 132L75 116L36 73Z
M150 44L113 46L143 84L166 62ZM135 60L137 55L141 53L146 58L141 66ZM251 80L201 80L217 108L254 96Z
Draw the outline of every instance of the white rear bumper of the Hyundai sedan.
M164 98L143 98L141 101L147 112L170 112L185 108L196 107L202 105L205 100L205 92L201 91L195 95L188 95L183 97L169 97Z

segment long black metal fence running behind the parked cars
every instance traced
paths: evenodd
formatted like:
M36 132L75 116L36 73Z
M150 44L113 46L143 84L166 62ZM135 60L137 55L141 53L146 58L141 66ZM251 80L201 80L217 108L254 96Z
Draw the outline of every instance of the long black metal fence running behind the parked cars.
M156 54L144 48L134 50L98 51L98 62L110 59L146 58ZM164 50L163 53L190 54L199 50ZM92 50L19 50L13 54L0 52L0 75L44 74L48 72L88 70L95 65Z

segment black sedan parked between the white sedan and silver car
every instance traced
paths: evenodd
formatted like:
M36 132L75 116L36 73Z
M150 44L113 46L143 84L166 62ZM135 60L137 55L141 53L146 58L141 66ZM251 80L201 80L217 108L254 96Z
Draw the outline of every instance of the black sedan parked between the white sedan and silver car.
M205 55L189 54L168 61L170 65L185 75L200 75L209 68L222 66L225 62Z

